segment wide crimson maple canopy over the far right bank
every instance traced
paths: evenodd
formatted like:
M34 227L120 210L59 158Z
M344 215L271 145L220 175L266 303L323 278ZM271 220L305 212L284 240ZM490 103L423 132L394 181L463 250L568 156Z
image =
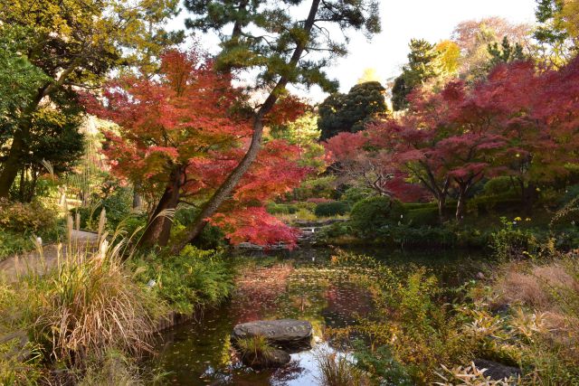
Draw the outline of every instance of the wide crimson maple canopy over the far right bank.
M521 192L568 173L579 148L579 58L560 71L539 73L533 63L498 66L468 87L451 81L438 93L414 90L403 117L327 141L327 155L350 178L404 198L420 184L442 215L451 188L459 201L483 177L511 175ZM398 192L388 187L398 181Z

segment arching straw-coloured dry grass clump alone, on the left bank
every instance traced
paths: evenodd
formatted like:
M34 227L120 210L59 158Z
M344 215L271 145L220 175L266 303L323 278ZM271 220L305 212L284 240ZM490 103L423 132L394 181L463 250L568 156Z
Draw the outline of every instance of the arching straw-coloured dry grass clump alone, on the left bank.
M105 243L97 256L69 256L35 283L35 334L39 340L48 338L57 361L80 364L110 347L134 355L150 351L157 302L131 280Z

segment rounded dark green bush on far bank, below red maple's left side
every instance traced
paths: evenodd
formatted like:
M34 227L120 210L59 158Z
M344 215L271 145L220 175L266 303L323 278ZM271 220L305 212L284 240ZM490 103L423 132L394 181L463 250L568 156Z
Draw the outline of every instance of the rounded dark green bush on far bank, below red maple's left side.
M397 200L383 196L371 197L356 202L350 212L350 221L360 234L375 234L375 231L386 225L398 224L404 212L403 205Z

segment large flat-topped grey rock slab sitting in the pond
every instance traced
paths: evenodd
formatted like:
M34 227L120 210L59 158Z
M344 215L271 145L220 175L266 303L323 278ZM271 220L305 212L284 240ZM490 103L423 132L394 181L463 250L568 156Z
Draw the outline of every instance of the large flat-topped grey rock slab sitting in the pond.
M310 347L312 327L303 320L258 320L233 327L232 339L236 341L252 336L264 336L269 344L287 350Z

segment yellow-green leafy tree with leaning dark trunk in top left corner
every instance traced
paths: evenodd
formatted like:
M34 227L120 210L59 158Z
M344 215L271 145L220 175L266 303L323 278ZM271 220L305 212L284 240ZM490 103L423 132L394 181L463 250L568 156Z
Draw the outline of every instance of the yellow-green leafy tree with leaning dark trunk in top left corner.
M178 0L0 0L0 35L11 34L14 54L43 72L29 98L9 112L0 171L0 197L8 195L33 143L33 122L57 94L98 87L110 70L153 71L157 53L183 33L163 26Z

